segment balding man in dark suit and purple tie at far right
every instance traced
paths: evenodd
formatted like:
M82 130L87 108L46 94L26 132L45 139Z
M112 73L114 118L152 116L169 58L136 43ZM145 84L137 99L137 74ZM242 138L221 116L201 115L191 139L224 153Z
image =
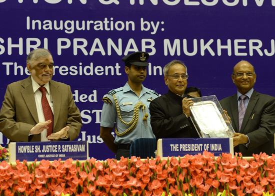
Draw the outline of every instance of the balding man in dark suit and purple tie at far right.
M256 74L247 61L238 62L231 75L237 94L220 101L221 107L231 117L234 152L252 156L265 152L275 153L275 98L257 93L254 89Z

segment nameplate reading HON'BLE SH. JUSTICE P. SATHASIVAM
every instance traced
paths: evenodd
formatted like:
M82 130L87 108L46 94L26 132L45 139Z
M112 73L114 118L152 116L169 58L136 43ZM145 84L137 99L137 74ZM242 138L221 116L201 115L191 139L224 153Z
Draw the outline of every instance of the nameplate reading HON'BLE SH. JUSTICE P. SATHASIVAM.
M61 159L87 160L87 141L58 142L11 142L9 144L9 162L19 161L54 161Z

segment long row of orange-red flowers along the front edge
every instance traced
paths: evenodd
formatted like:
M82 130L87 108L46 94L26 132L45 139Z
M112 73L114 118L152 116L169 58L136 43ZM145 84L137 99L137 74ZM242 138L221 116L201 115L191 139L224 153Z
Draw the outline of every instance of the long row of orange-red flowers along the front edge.
M13 168L0 163L0 191L4 196L267 196L274 194L275 155L241 154L214 157L203 154L145 159L131 157L104 162L71 159ZM164 195L163 195L164 194Z

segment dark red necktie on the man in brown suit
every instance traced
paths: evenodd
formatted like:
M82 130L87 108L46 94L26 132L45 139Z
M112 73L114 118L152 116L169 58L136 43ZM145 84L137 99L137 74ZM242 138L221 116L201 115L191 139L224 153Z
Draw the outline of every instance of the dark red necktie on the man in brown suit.
M39 91L42 92L41 103L42 103L42 109L43 109L45 121L51 120L51 123L47 125L48 127L47 137L48 137L50 134L52 134L52 130L53 130L53 114L46 98L46 88L40 87L38 89Z

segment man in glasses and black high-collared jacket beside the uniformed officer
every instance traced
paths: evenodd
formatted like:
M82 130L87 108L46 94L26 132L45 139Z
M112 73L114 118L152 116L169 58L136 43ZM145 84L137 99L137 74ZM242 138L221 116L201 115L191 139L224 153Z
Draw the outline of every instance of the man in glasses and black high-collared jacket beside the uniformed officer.
M168 92L150 103L151 127L156 140L159 138L198 138L190 116L194 102L184 93L187 86L187 67L173 60L163 68Z

